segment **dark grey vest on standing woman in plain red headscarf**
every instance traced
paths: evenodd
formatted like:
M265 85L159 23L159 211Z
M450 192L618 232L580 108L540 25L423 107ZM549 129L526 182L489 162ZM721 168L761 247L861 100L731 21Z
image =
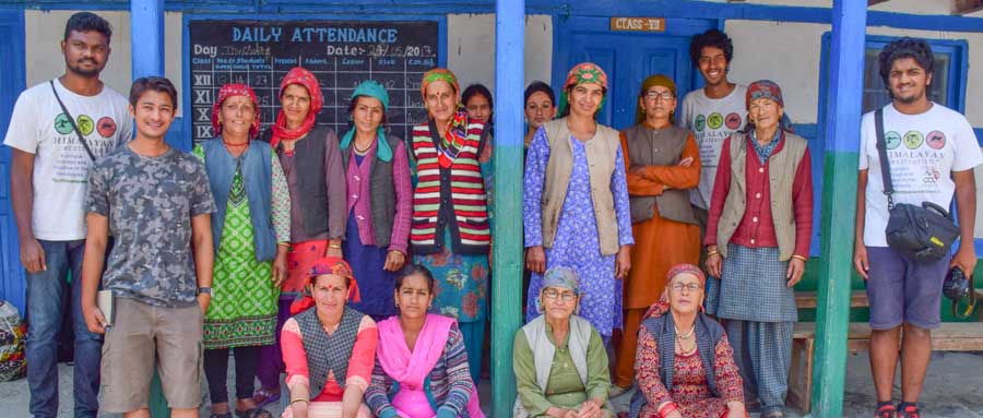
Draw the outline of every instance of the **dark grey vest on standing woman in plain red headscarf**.
M324 174L324 153L337 143L329 144L331 129L315 128L294 145L294 171L304 207L304 231L313 237L328 231L328 183ZM270 142L272 129L263 131L259 140ZM330 135L334 136L334 135ZM333 150L331 150L333 151ZM283 158L283 143L276 145L276 155ZM334 179L333 179L334 180ZM345 181L336 179L334 181Z

